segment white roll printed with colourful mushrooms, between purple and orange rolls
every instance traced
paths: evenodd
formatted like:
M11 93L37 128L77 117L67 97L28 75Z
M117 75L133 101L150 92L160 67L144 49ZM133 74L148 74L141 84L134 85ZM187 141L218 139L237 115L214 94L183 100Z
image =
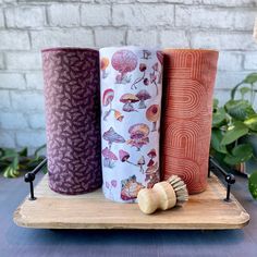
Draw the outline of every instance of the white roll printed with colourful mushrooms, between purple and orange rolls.
M135 203L159 182L163 56L157 49L100 49L102 191Z

